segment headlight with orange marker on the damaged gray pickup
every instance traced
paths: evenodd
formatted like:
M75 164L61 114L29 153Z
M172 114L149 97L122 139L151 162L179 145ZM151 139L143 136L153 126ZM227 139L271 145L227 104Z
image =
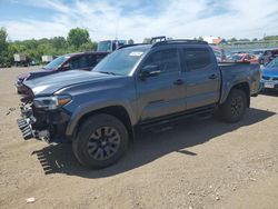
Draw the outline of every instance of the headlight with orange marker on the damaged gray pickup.
M36 108L46 110L56 110L71 101L70 96L51 96L51 97L39 97L33 99Z

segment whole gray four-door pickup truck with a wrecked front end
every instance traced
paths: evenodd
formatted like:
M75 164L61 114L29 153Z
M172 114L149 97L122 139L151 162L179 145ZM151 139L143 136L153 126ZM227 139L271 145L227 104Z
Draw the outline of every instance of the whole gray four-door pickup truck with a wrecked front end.
M260 69L217 63L203 41L168 40L123 46L92 71L24 84L23 138L72 142L80 163L103 168L125 153L137 128L207 113L239 121L259 91Z

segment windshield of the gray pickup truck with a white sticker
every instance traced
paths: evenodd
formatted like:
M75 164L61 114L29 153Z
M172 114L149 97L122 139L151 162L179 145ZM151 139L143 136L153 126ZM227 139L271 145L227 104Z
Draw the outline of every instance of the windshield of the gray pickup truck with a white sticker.
M101 60L93 71L128 76L149 48L123 48L116 50Z

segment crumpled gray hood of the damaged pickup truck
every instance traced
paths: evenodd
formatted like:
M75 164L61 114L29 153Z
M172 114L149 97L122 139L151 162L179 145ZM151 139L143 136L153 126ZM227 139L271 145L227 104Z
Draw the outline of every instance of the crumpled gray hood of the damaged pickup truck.
M72 70L26 81L24 84L32 90L34 96L43 96L53 94L56 91L66 87L81 84L85 82L97 82L99 80L111 80L115 78L119 78L119 76L93 71Z

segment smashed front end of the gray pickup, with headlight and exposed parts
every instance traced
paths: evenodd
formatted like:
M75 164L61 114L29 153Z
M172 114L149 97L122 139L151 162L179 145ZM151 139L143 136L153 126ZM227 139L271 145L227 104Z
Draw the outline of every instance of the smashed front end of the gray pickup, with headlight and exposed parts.
M36 138L51 142L64 142L64 132L70 113L62 106L71 100L69 96L33 97L26 94L21 101L21 119L18 120L23 139Z

